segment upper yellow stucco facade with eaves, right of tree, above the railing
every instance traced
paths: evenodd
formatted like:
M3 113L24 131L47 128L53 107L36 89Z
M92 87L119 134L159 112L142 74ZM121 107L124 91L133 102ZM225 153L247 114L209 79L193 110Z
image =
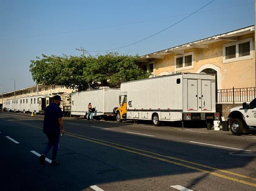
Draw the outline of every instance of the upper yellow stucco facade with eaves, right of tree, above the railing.
M216 89L256 86L254 26L141 56L152 76L177 72L214 73Z

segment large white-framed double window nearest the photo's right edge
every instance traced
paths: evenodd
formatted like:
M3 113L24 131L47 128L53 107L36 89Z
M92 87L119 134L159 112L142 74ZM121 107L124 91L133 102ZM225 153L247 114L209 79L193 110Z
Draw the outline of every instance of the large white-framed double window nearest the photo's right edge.
M253 39L223 44L223 63L253 59Z

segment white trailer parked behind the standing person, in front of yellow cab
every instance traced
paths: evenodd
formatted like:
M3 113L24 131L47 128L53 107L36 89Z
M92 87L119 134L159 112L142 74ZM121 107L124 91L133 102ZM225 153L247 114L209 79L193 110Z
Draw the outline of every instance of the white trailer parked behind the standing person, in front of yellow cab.
M71 115L87 116L88 104L95 112L93 116L115 116L113 109L119 105L120 89L103 87L98 90L71 93Z

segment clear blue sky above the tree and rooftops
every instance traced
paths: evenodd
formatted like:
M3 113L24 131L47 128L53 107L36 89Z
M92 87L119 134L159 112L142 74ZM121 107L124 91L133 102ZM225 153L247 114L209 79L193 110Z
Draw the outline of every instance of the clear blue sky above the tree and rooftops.
M175 24L211 0L0 0L0 84L35 85L36 56L105 54ZM198 13L120 54L150 54L254 24L254 0L215 0ZM94 52L95 51L95 52ZM97 52L98 51L98 52ZM0 86L0 93L1 92Z

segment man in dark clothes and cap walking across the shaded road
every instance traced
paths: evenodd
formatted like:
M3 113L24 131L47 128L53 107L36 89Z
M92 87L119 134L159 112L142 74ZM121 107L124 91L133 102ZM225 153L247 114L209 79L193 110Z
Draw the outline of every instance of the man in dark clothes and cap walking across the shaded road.
M45 108L45 117L43 121L43 132L48 138L48 144L45 147L45 152L39 157L40 163L45 164L45 157L53 147L52 163L51 165L59 165L60 162L56 160L58 145L60 141L60 134L64 134L64 124L63 124L63 113L60 109L60 96L53 96L53 101L51 105Z

